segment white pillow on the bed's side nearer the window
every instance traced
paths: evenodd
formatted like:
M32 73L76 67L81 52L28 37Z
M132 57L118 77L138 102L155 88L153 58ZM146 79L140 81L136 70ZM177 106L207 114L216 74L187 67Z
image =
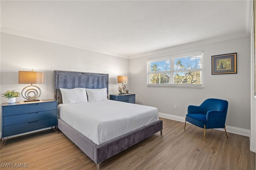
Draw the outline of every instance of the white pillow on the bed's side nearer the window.
M86 89L88 102L108 100L107 88Z

